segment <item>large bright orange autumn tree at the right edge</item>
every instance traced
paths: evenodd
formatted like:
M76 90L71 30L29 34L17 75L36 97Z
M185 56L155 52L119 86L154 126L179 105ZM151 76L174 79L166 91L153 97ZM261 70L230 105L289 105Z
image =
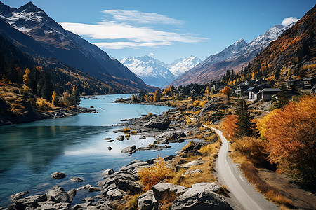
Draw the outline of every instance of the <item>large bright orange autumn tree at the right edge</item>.
M259 130L261 136L268 140L269 160L278 164L278 172L315 184L315 94L270 112L260 121Z

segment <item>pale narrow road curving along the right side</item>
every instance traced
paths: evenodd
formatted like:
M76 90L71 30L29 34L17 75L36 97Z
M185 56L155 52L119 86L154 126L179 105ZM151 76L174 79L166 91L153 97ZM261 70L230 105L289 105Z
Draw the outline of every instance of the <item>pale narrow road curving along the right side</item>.
M229 144L222 132L212 127L222 140L220 151L218 152L218 160L216 162L216 169L219 179L227 186L230 193L235 196L237 202L242 209L249 210L265 210L265 209L279 209L277 205L265 200L261 193L258 193L251 184L246 181L242 174L237 172L237 167L232 164L228 157Z

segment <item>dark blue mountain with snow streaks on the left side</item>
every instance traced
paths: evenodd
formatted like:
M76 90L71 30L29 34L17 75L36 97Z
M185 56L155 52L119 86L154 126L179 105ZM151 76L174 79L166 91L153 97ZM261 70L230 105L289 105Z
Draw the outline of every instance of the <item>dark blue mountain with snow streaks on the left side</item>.
M62 64L88 73L112 86L117 92L154 90L106 52L88 43L80 36L63 29L57 22L32 2L20 8L11 8L0 2L0 18L23 34L15 34L5 22L0 24L1 34L24 52L45 59L58 59Z

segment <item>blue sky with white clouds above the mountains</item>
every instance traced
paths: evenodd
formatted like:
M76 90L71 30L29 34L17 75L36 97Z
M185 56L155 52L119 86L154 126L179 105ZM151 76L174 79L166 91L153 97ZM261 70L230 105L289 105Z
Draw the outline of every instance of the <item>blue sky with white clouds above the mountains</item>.
M0 0L20 7L25 0ZM165 63L204 60L240 38L249 43L278 24L299 20L314 0L33 0L67 30L117 59L149 55Z

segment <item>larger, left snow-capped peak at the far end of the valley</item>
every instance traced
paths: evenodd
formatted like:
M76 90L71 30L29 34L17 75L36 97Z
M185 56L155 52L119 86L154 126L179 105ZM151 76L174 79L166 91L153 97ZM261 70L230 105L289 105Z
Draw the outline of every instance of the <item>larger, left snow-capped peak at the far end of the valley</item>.
M133 71L147 85L164 87L176 78L166 68L164 62L147 55L143 57L124 57L120 62Z

